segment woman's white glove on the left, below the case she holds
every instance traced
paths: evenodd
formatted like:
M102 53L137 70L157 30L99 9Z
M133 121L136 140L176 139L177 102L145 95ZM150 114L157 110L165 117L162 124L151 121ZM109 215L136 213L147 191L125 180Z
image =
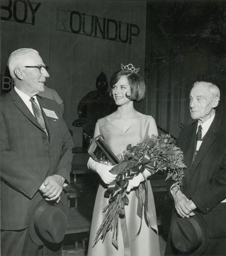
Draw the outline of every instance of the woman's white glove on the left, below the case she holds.
M115 180L115 178L117 177L117 174L112 174L111 172L109 172L113 167L112 165L97 163L91 157L89 158L87 165L89 170L93 172L97 172L100 175L100 178L106 184L109 184L110 182Z

